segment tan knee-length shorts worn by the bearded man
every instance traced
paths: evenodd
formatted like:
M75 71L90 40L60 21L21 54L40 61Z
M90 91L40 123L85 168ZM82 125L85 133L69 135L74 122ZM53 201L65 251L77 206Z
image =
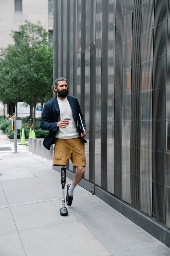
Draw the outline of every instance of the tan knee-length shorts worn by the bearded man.
M69 159L73 166L86 166L84 143L80 138L56 139L53 165L67 165Z

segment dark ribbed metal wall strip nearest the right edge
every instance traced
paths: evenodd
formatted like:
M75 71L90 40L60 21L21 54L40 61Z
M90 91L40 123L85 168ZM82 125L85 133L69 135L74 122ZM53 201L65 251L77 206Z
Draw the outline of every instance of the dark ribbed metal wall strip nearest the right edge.
M155 1L153 51L153 217L166 224L166 79L169 1Z

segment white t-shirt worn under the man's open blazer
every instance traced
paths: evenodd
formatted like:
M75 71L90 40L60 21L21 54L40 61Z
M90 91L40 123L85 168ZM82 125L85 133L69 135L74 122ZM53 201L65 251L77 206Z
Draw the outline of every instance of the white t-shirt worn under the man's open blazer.
M66 128L59 127L55 138L57 139L73 139L80 137L77 126L75 125L72 110L67 97L64 100L57 98L60 108L60 121L65 118L70 118L69 125Z

